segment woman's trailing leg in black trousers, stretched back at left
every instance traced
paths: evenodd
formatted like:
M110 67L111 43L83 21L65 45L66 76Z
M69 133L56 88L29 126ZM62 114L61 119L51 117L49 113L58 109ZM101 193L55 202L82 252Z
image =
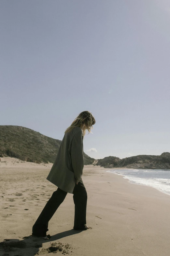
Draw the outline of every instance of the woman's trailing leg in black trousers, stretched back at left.
M52 218L60 204L64 201L66 195L67 192L61 190L60 188L53 192L51 198L46 203L44 209L35 221L32 228L32 235L43 237L46 236L49 220Z

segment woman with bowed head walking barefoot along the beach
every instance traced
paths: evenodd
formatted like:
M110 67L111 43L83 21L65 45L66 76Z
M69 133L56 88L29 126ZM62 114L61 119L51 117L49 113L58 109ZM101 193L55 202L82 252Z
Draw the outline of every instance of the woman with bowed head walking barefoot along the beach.
M37 218L32 235L49 239L46 235L48 223L67 193L73 194L75 204L74 230L92 229L86 225L87 192L81 179L84 167L83 137L86 129L91 132L95 119L91 112L83 111L65 130L55 162L47 177L58 188Z

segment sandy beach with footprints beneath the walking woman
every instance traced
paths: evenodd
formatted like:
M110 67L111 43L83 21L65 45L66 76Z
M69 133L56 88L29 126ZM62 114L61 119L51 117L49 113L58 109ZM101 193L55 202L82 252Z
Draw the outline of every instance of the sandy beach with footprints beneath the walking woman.
M169 256L170 196L130 183L106 168L84 165L87 226L73 230L73 194L49 222L51 238L32 237L32 226L57 187L46 177L52 163L4 157L0 162L0 255Z

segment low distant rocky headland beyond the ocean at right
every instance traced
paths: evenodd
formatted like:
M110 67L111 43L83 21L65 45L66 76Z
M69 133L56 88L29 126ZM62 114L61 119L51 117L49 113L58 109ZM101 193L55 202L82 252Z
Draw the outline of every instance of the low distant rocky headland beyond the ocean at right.
M138 155L123 159L109 156L98 159L95 165L100 165L104 168L170 169L170 153L164 152L160 156Z

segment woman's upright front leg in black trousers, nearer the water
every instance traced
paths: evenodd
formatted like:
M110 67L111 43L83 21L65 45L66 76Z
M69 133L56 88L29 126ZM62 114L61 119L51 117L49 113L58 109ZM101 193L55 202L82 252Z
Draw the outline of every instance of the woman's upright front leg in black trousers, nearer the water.
M87 229L86 224L86 208L87 208L87 191L82 179L75 184L73 190L73 200L75 204L74 227L73 229Z

